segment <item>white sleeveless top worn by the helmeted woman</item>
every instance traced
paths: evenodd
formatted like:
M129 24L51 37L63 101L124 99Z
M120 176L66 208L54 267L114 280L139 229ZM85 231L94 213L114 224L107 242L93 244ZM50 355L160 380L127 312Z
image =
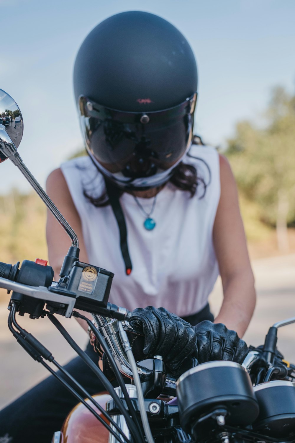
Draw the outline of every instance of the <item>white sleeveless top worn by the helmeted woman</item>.
M61 165L80 215L89 263L115 274L109 302L130 311L150 305L165 307L179 316L195 314L207 304L218 276L212 229L220 196L219 159L215 149L207 146L192 145L189 155L199 159L187 155L184 163L194 165L205 183L210 181L206 193L200 198L204 188L199 185L190 198L189 192L167 183L157 194L153 230L144 228L146 217L131 194L120 198L132 262L129 276L111 206L96 208L83 194L86 190L99 197L104 190L103 176L88 156ZM149 213L153 198L138 201Z

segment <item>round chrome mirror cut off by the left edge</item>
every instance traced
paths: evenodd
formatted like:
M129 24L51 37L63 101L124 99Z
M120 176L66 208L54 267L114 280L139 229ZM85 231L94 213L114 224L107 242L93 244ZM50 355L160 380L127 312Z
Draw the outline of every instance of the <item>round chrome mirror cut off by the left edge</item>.
M0 129L2 129L0 131L0 144L8 142L3 132L3 129L5 129L15 148L18 148L23 136L23 116L13 98L2 89L0 89ZM1 150L0 163L7 158Z

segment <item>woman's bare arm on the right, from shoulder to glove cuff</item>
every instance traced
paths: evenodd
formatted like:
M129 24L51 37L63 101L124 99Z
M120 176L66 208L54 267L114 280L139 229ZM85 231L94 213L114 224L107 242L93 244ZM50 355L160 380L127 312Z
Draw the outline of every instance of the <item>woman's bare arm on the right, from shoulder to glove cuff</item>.
M230 164L219 155L221 194L213 227L213 241L222 279L223 303L214 323L245 334L253 315L256 293L238 190Z

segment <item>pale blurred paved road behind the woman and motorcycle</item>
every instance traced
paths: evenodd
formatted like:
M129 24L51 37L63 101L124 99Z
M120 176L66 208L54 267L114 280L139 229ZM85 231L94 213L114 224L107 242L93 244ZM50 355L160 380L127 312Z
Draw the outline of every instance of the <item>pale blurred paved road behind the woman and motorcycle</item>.
M258 294L257 307L245 334L248 344L263 343L268 327L273 323L295 316L295 254L253 262ZM222 301L220 281L210 296L211 309L216 314ZM33 361L15 342L7 327L6 304L0 304L0 408L47 376L46 370ZM57 361L65 363L73 351L48 319L20 323L40 339ZM87 334L74 319L62 319L80 346L87 342ZM278 347L285 358L295 362L295 325L279 330Z

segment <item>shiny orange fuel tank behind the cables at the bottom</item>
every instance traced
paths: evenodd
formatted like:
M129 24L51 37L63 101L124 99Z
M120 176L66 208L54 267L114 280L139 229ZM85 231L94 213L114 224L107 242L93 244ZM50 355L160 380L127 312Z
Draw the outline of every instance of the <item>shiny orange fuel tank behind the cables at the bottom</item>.
M104 409L107 400L110 400L111 396L107 392L103 392L94 395L93 398ZM90 400L86 401L109 424L109 421L104 418ZM62 425L60 443L107 443L108 437L109 432L103 424L85 408L84 404L79 403L72 409Z

